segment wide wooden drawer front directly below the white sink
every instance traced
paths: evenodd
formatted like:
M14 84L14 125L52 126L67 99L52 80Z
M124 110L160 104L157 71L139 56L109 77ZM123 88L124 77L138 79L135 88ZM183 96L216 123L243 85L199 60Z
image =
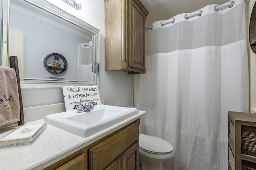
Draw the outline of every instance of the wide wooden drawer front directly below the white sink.
M107 168L121 154L129 149L139 139L139 122L136 121L126 129L109 137L89 149L90 170Z

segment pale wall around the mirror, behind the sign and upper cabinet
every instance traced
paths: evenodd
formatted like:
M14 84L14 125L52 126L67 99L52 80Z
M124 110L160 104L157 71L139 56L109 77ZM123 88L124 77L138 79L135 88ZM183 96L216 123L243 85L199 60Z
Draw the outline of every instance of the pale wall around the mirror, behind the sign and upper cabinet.
M100 30L100 97L104 97L104 104L107 105L130 105L130 75L121 71L106 72L104 68L104 0L82 0L81 10L61 0L48 1ZM63 103L64 98L61 88L22 89L22 102L23 107L27 108Z

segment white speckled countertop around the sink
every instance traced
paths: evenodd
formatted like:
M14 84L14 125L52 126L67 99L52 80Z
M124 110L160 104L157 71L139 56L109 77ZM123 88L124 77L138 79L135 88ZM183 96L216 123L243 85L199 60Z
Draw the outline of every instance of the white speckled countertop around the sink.
M139 111L137 115L86 138L62 130L48 123L46 129L44 129L31 145L0 149L0 170L39 170L46 168L132 121L135 121L145 113L145 111ZM43 122L44 119L41 119L25 124L29 125ZM17 127L18 126L13 126L8 129L1 129L0 138L4 137Z

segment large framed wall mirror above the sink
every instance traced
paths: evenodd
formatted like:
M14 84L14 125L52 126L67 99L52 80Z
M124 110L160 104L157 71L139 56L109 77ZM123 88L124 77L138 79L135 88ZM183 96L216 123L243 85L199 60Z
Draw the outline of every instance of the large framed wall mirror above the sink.
M22 84L99 85L98 29L45 0L10 0L9 15L8 52L2 61L8 65L7 56L18 56ZM54 55L44 59L55 53L65 58L65 66L60 59L58 68L50 68Z

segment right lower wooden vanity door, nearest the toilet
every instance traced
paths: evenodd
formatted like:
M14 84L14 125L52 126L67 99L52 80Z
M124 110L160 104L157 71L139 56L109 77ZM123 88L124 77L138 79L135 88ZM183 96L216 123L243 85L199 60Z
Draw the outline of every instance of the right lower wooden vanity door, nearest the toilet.
M139 170L139 143L136 142L121 156L122 170Z

